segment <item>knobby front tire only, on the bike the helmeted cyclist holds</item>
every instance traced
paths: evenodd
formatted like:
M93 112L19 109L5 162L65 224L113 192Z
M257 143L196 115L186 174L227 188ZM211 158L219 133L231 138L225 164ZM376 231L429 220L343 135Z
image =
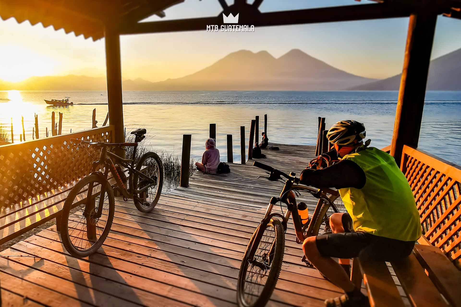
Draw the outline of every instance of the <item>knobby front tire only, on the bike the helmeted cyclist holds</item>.
M269 301L272 292L275 289L277 284L278 276L280 275L280 270L282 269L282 261L284 258L284 247L285 247L285 232L282 223L278 219L272 219L267 226L272 226L275 231L275 250L274 255L272 258L272 262L270 263L270 270L269 274L267 275L266 284L264 285L263 289L260 292L260 295L257 297L256 301L253 303L248 303L245 300L245 284L247 283L244 278L246 277L246 273L248 271L249 263L248 263L248 253L249 249L253 245L253 241L258 232L258 228L253 233L250 241L248 242L247 249L245 254L243 255L242 264L240 265L240 270L238 274L237 280L237 303L239 307L262 307L265 306L267 301ZM258 242L259 247L260 242ZM266 275L266 274L265 274Z

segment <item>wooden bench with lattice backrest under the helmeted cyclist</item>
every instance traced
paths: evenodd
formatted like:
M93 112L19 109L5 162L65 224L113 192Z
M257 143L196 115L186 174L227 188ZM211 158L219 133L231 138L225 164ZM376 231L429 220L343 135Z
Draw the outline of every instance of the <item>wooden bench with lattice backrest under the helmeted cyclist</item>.
M354 259L351 281L361 286L363 278L371 306L405 306L397 285L411 306L461 306L461 168L404 146L401 170L412 188L423 236L409 257L390 266Z

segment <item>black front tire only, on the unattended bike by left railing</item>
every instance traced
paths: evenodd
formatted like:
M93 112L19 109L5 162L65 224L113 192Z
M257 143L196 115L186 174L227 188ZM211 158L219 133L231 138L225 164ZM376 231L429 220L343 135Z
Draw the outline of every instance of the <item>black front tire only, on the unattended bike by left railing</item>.
M99 184L104 184L106 185L106 192L104 193L104 198L106 197L107 193L107 199L108 199L108 213L107 213L107 220L104 226L104 230L101 232L99 238L97 241L91 245L89 249L78 249L74 246L74 244L71 241L71 237L69 235L69 215L71 213L71 209L73 209L74 205L74 199L76 199L77 195L80 194L80 191L82 191L82 188L84 188L86 185L88 185L91 182L97 182ZM109 235L109 231L112 226L112 220L114 217L114 212L115 212L115 201L114 201L114 193L112 190L112 186L109 184L107 180L101 179L100 176L96 174L91 174L89 176L86 176L82 180L80 180L71 190L69 195L67 196L64 207L62 209L62 214L61 214L61 224L60 224L60 233L61 233L61 240L62 243L64 244L65 249L71 254L72 256L76 258L83 258L87 257L89 255L94 254L104 243L106 240L106 237ZM83 218L82 218L83 219ZM88 225L88 221L86 218L83 223L86 221L86 225ZM74 228L75 229L75 228Z

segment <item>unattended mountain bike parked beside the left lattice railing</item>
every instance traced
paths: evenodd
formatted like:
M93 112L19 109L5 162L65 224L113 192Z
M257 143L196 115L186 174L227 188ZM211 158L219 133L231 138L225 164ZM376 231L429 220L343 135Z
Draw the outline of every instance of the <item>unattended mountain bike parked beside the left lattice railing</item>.
M100 151L99 160L93 162L90 175L80 180L67 196L59 223L62 243L74 257L94 254L106 240L115 212L114 191L109 182L109 171L115 180L115 189L124 200L133 199L141 212L154 209L163 186L163 165L154 152L143 154L135 161L136 148L146 136L146 129L137 129L134 143L89 142L71 139L74 146ZM124 159L112 151L133 147L131 159ZM119 165L114 165L114 159ZM78 161L79 157L74 157ZM135 165L136 164L136 165ZM128 178L124 170L128 171ZM127 182L128 181L128 182ZM128 185L127 185L128 183ZM83 211L82 211L83 209Z

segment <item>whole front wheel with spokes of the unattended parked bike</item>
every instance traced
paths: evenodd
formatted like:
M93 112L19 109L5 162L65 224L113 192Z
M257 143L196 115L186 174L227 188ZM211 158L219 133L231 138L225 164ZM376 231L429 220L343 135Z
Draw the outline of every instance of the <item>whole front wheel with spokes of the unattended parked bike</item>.
M101 197L106 221L97 217ZM67 196L61 215L61 239L69 254L77 258L94 254L109 234L114 212L114 194L107 180L96 174L80 180Z

